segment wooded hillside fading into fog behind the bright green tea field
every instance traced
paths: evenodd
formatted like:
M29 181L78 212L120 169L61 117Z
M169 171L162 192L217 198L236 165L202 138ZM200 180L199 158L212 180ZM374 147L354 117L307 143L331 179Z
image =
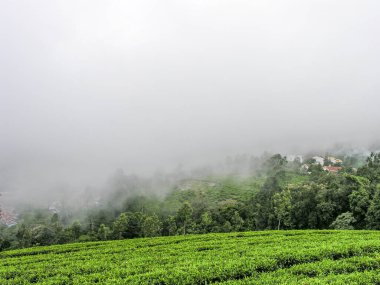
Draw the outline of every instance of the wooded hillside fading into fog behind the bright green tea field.
M378 230L380 153L357 163L346 158L329 172L312 158L302 164L274 154L245 175L184 176L164 195L143 190L154 188L152 181L118 173L112 192L96 205L24 208L16 225L1 225L0 250L277 229Z

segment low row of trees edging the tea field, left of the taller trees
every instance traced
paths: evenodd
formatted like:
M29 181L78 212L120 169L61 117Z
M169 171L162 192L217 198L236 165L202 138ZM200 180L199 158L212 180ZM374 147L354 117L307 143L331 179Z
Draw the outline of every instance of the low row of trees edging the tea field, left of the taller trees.
M139 198L145 200L144 197ZM112 211L92 211L84 221L76 220L67 226L57 213L49 220L50 214L45 212L44 215L44 221L30 217L29 220L34 221L29 224L4 228L7 234L0 239L0 248L249 229L244 227L234 200L226 201L217 211L202 211L185 202L177 212L168 216L128 211L115 217Z

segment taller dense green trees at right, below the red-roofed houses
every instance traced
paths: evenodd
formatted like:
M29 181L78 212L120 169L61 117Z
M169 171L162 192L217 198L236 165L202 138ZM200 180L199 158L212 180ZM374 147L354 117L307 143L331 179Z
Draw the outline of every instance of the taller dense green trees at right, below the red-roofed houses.
M380 229L380 154L355 173L312 169L300 184L281 185L281 169L268 176L252 200L256 229Z

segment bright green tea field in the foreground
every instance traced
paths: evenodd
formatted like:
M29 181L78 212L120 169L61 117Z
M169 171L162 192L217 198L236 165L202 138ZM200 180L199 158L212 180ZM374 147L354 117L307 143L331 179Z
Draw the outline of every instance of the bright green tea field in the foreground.
M376 282L380 232L375 231L207 234L0 253L0 284Z

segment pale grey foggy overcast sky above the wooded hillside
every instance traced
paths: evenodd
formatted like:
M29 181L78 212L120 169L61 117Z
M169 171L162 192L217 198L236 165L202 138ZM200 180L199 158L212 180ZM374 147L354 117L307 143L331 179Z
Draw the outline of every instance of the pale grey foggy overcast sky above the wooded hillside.
M376 0L2 0L0 184L379 139L379 35Z

